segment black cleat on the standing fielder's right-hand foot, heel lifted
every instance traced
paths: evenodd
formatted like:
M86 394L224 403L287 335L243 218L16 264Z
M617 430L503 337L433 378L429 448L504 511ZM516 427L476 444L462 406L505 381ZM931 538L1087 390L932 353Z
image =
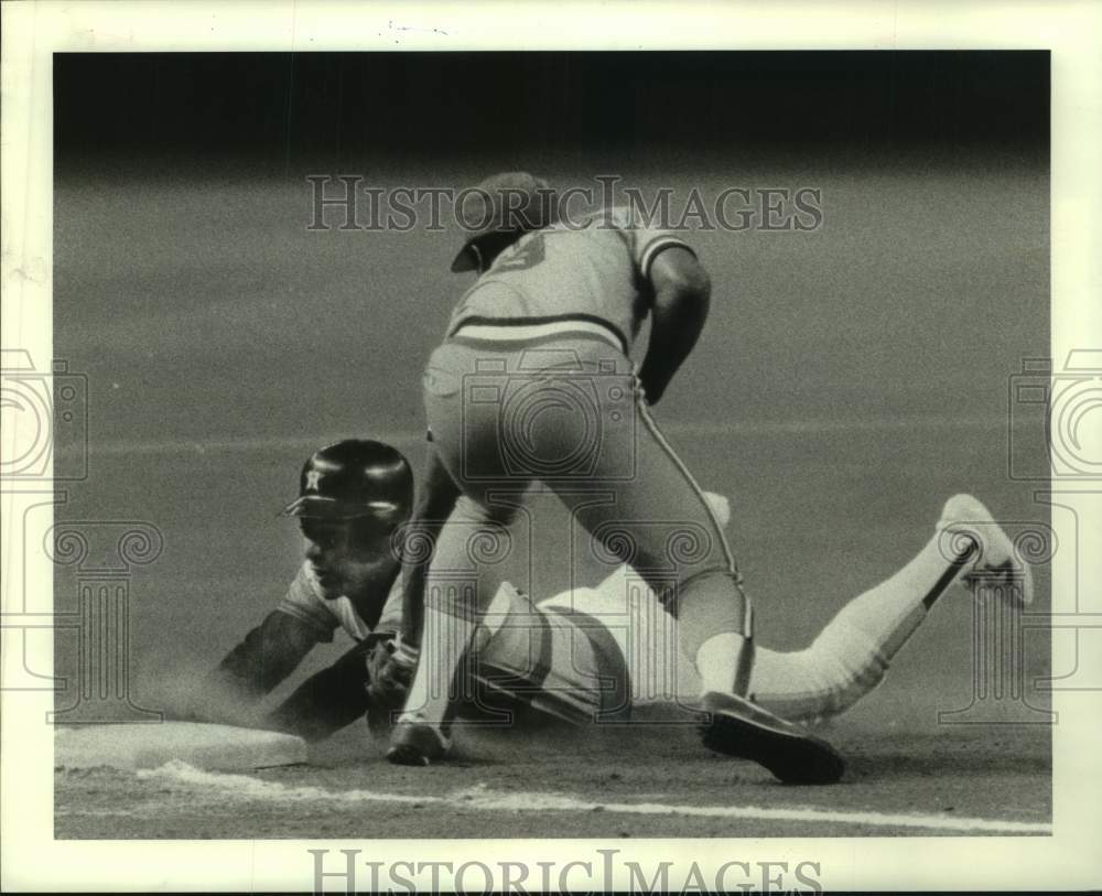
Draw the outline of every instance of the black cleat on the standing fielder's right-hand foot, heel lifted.
M785 784L835 784L845 771L845 760L825 741L744 698L707 691L701 709L711 714L701 728L704 746L752 759Z

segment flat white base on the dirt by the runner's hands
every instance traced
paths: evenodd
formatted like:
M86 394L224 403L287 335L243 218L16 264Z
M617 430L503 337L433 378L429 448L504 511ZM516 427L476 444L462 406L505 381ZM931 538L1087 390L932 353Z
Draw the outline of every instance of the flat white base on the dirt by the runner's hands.
M214 770L241 770L306 760L306 742L273 731L161 722L58 727L54 766L64 768L155 768L179 759Z

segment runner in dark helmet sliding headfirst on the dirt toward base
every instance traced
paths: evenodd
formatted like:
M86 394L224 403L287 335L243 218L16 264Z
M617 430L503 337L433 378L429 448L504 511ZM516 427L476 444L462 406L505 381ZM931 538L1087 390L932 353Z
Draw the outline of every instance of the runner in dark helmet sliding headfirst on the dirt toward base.
M252 724L327 737L363 717L385 721L404 697L392 657L408 650L398 635L401 563L392 550L411 510L413 479L406 458L379 442L348 440L312 454L298 498L305 558L287 595L235 647L196 692L186 717ZM727 504L706 494L717 521ZM951 498L926 546L887 581L852 600L810 647L756 651L748 698L789 722L838 715L878 684L930 606L954 582L982 574L1005 580L1006 600L1028 602L1028 566L974 498ZM691 662L661 643L669 616L627 565L595 587L534 602L508 582L490 602L475 678L479 689L461 703L465 717L493 721L527 704L572 722L624 719L646 703L694 701L700 682ZM317 644L343 629L354 646L310 677L270 712L261 699ZM408 681L408 677L406 678ZM648 682L672 682L656 690Z

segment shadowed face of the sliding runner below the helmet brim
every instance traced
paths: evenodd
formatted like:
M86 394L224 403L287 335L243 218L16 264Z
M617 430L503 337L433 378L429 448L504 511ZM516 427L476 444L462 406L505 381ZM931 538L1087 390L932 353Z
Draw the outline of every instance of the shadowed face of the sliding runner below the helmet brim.
M301 520L306 538L306 560L327 597L352 596L370 590L380 572L393 562L389 539L365 542L345 520Z

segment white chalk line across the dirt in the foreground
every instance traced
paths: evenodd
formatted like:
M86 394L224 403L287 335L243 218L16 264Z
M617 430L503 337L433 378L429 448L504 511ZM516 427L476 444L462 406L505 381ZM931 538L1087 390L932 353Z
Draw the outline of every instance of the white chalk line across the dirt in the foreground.
M306 802L323 800L329 805L358 802L397 802L407 805L446 805L485 812L592 812L601 810L633 816L689 816L750 821L804 821L823 824L862 824L872 828L915 828L959 833L1051 834L1046 822L1009 821L985 818L890 812L842 812L814 807L767 809L759 806L677 806L661 802L593 802L563 794L499 794L483 786L457 790L444 797L414 797L374 790L327 790L324 787L289 787L278 781L248 775L204 771L186 763L172 762L155 769L140 770L142 779L169 780L191 785L196 790L220 798L242 801Z

